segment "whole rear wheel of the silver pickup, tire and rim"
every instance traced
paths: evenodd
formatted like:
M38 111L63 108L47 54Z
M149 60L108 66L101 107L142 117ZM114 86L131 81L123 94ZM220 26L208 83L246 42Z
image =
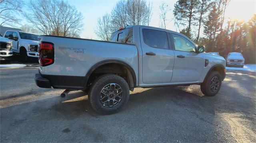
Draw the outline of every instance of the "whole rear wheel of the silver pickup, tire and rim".
M116 74L104 74L93 82L89 92L92 108L99 114L114 114L129 100L129 86Z

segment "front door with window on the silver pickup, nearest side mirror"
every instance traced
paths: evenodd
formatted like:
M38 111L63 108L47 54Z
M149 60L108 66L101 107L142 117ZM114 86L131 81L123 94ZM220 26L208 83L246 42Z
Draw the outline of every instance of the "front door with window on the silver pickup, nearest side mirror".
M175 62L171 82L198 81L204 67L202 54L196 53L196 46L182 35L172 34L172 38Z

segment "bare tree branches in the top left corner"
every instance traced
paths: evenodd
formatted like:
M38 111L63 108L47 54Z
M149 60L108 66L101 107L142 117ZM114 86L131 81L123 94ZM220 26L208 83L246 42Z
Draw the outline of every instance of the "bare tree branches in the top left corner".
M0 0L0 26L19 23L16 14L21 12L22 0Z

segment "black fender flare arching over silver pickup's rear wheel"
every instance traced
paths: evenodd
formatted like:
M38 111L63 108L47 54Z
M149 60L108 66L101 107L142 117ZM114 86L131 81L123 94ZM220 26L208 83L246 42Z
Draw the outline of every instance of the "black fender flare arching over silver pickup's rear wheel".
M126 68L128 68L128 70L129 70L129 71L131 72L131 74L132 74L132 79L133 79L134 87L136 87L136 85L137 85L137 79L136 79L136 74L135 74L135 72L134 72L134 69L132 69L132 67L131 67L130 65L128 65L127 63L125 63L124 61L121 61L121 60L109 59L109 60L100 61L100 62L94 64L94 65L88 70L88 72L86 73L86 76L89 77L95 69L97 69L98 67L100 67L100 66L102 66L102 65L110 64L110 63L116 63L116 64L124 65Z

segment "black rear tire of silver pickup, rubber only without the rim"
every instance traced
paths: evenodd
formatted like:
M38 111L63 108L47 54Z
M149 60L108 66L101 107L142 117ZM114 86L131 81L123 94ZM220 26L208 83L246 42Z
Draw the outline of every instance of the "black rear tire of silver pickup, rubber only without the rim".
M100 93L104 86L111 83L120 85L120 87L122 88L122 99L118 103L118 105L114 107L105 107L100 101ZM92 108L99 114L107 115L114 114L120 111L127 104L129 100L129 94L129 86L126 80L124 80L124 78L116 74L104 74L94 80L94 82L91 85L88 96L90 96L89 100Z

